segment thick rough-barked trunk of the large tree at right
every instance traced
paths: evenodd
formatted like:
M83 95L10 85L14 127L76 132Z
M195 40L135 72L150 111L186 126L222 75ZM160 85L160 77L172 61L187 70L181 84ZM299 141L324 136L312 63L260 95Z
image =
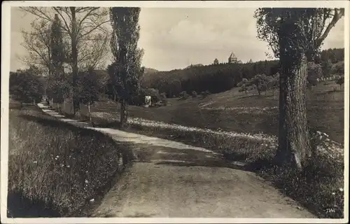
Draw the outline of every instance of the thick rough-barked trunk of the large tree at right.
M305 90L307 87L307 58L302 54L296 63L281 57L279 85L279 149L276 159L280 165L302 169L310 155Z

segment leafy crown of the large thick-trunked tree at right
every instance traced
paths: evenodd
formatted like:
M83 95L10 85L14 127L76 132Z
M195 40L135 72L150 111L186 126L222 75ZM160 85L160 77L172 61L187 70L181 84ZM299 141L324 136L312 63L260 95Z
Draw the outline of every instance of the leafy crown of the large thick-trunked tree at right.
M312 61L330 29L344 15L344 8L259 8L255 11L258 37L269 43L274 56L279 58L286 52L280 51L281 37L290 35L288 52L298 59L302 53ZM295 46L298 47L295 47ZM293 49L292 49L293 48Z

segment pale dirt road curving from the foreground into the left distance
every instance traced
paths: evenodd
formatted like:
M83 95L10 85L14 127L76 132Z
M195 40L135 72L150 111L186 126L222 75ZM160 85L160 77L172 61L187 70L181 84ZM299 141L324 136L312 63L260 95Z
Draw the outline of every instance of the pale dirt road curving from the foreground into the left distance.
M176 141L87 128L129 142L137 156L104 196L94 217L316 218L244 171L244 164L228 162L220 154Z

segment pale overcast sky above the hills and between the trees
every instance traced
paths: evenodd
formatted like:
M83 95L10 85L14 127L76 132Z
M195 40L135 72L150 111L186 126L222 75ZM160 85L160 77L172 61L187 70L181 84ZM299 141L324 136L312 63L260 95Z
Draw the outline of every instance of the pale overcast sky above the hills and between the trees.
M142 64L158 70L180 69L189 64L227 62L230 52L238 59L267 59L267 44L256 38L253 8L141 8L139 47ZM32 15L11 9L10 70L24 67L21 29L30 29ZM330 31L323 49L344 48L344 18Z

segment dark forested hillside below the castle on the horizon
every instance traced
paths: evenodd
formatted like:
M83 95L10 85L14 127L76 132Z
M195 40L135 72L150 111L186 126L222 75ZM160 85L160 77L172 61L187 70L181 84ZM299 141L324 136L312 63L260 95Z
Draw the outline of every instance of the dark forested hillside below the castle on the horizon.
M334 48L321 51L316 57L316 64L328 62L337 64L344 61L344 48ZM193 91L211 93L225 92L236 87L242 78L264 73L271 76L279 72L279 61L260 61L245 64L200 64L188 66L186 69L174 69L172 71L159 71L147 74L142 80L143 87L151 87L165 92L167 97L179 96L183 91L189 94Z

